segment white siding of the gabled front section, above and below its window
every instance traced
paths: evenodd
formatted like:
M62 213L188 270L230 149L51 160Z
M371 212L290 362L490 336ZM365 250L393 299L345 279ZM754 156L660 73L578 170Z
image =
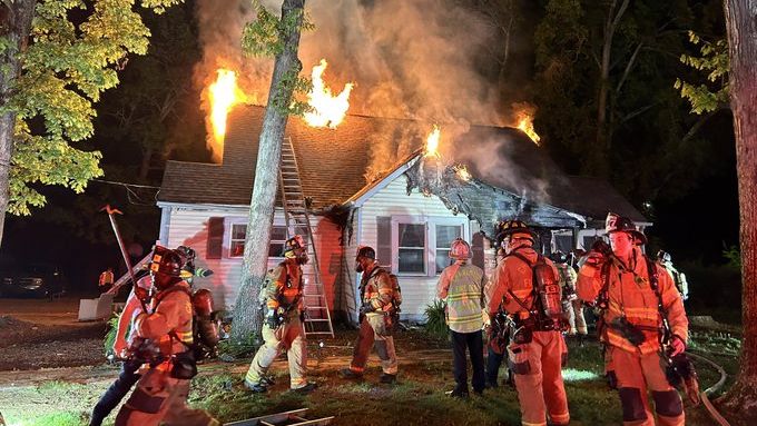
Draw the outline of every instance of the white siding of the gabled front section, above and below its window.
M415 216L422 221L424 218L464 218L464 216L452 215L436 196L426 197L416 189L409 196L406 182L405 176L401 175L363 204L360 244L376 247L377 216ZM470 229L470 221L468 222ZM470 231L463 238L470 241ZM396 245L396 241L393 244ZM399 275L399 278L403 298L402 318L425 320L424 310L426 305L436 297L439 277L436 275L427 277Z

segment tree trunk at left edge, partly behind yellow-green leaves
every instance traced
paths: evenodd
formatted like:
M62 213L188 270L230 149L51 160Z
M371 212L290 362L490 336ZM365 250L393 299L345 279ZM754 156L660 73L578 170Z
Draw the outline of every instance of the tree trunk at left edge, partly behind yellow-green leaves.
M21 75L21 57L27 47L31 19L35 16L36 0L16 0L0 6L0 32L7 37L11 49L0 56L0 105L6 106L13 97L13 85ZM16 112L8 111L0 116L0 244L6 224L6 212L10 202L10 166L13 157L13 128Z

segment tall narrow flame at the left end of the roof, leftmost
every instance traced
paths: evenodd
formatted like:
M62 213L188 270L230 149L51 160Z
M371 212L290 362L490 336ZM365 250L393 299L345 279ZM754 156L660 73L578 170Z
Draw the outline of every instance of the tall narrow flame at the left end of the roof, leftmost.
M220 68L216 72L218 75L216 81L208 86L210 125L213 126L210 149L214 159L220 160L226 137L226 117L234 105L244 101L245 96L237 87L234 71Z

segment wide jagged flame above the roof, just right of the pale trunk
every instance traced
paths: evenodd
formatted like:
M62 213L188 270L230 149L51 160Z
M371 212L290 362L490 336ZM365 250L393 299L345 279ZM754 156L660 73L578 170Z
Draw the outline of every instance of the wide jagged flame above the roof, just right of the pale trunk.
M355 86L352 82L344 85L344 89L337 96L332 96L332 91L323 81L323 73L328 63L321 59L321 63L313 67L313 89L307 93L307 103L313 108L305 112L305 122L312 127L328 127L335 129L350 108L350 92Z

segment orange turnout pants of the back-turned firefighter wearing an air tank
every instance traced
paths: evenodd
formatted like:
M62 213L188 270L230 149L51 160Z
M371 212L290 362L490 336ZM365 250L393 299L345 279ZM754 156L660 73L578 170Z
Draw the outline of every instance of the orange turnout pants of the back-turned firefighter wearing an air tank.
M562 383L567 350L560 331L533 331L531 343L508 346L508 363L513 371L524 426L547 425L547 416L552 425L570 422Z

